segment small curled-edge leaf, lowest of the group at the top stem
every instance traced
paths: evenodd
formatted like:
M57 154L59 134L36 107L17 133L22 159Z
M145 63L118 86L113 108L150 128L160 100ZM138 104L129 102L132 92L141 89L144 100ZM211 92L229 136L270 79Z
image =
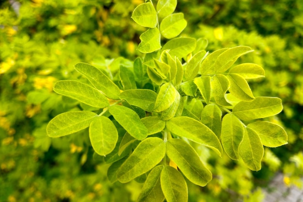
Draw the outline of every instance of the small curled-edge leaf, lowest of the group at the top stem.
M141 43L138 45L137 50L141 53L151 53L161 48L161 35L158 28L148 29L139 38Z

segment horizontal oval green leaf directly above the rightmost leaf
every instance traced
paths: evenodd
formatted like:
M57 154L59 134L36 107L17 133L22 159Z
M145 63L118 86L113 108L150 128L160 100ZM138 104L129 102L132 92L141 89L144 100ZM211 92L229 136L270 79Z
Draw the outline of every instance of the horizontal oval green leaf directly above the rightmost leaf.
M276 115L282 109L282 101L278 97L256 97L251 102L239 102L232 112L239 119L248 121Z

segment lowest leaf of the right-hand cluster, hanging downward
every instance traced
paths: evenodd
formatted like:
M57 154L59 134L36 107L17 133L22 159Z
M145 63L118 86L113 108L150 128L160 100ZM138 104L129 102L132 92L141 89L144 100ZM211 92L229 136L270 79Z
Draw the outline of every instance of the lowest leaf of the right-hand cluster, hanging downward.
M261 169L264 148L258 134L249 127L244 128L239 154L250 170L259 171Z

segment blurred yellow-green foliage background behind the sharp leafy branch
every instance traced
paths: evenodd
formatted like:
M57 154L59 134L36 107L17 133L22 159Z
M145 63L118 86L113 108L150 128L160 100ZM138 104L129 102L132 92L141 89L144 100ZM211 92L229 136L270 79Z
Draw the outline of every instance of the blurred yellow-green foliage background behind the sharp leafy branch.
M143 0L0 0L0 202L132 202L143 184L111 184L87 131L58 139L46 124L86 106L54 93L57 80L78 79L77 62L114 66L132 62L145 31L130 18ZM155 3L155 2L154 2ZM207 51L255 49L241 58L265 69L251 83L256 96L282 98L271 117L288 144L265 149L262 170L227 156L201 158L213 173L206 187L189 184L190 202L262 201L277 172L285 186L303 187L303 1L179 0L188 22L182 36L204 38Z

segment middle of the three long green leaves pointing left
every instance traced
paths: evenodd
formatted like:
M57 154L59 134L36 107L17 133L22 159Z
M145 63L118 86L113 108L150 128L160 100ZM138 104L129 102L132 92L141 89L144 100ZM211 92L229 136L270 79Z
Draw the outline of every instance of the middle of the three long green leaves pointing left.
M61 95L74 98L92 107L106 108L109 106L109 102L104 94L79 81L58 81L55 83L54 91Z

